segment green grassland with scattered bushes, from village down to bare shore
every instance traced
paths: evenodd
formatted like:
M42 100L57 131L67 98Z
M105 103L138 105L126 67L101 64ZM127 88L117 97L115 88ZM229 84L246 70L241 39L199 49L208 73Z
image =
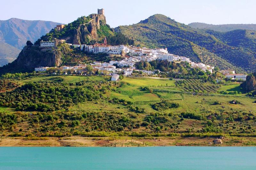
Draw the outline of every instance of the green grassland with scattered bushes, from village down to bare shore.
M38 77L30 77L26 79L20 80L20 83L26 82L38 82L38 81L55 81L55 78L63 78L64 83L75 83L78 81L85 81L88 84L97 85L99 82L107 82L110 79L110 76L101 77L101 76L38 76ZM19 113L15 111L15 108L10 107L0 107L0 112L4 113L14 113L17 115L27 115L23 116L22 122L15 127L14 131L18 131L19 129L26 129L26 132L40 132L43 130L42 127L48 127L47 131L61 131L65 132L68 131L73 133L75 130L84 132L85 129L87 131L97 131L94 127L98 127L100 124L104 123L102 119L102 114L105 113L106 115L113 115L113 122L119 123L124 120L131 121L133 123L132 130L125 126L124 122L124 131L126 132L138 132L138 133L202 133L202 129L206 127L207 116L212 115L215 119L214 127L212 129L208 129L207 132L217 133L224 132L226 134L230 133L254 133L256 132L256 124L255 124L255 116L256 116L256 103L254 101L256 99L248 98L244 96L244 94L238 95L221 95L219 94L220 91L225 92L241 92L239 85L240 84L232 84L232 85L220 85L218 91L215 93L208 93L208 94L188 94L185 93L188 89L184 90L184 85L176 86L176 80L169 80L169 79L154 79L154 78L140 78L140 77L124 77L122 80L119 81L121 84L122 82L124 85L118 86L118 83L115 84L113 89L107 90L106 92L102 93L102 98L99 100L92 100L92 101L84 101L79 102L78 104L74 104L73 106L69 107L67 111L59 110L49 113L40 113L33 111L33 115L35 117L39 116L40 114L52 114L58 115L58 113L65 114L84 114L84 113L94 113L95 117L93 119L79 119L81 124L77 127L72 128L71 122L74 120L71 116L71 119L64 120L67 124L64 128L57 128L58 123L60 123L60 118L56 118L53 122L48 123L46 122L36 122L34 117L29 117L30 111L20 111ZM186 83L194 83L196 84L196 88L198 91L203 91L203 89L208 89L212 86L211 83L207 82L207 86L200 89L200 85L204 85L202 82L193 82L193 80L186 80ZM102 83L100 83L103 85ZM119 85L120 85L119 84ZM114 84L113 84L114 85ZM72 85L75 87L76 85ZM81 85L82 86L82 85ZM83 86L82 86L83 87ZM149 87L149 89L158 89L164 91L143 91L142 88ZM207 89L205 91L207 91ZM207 92L212 92L212 90L208 90ZM132 104L123 105L121 103L113 102L114 97L118 99L131 101ZM237 100L240 101L241 104L230 104L230 101ZM162 109L160 107L159 110L154 109L154 105L159 103L175 103L178 104L179 107L165 107ZM217 103L217 104L216 104ZM144 109L143 112L136 112L132 108L139 108ZM182 113L193 113L197 115L201 115L201 119L194 119L194 118L183 118ZM106 116L104 115L104 116ZM149 116L150 115L150 116ZM148 121L148 116L151 117ZM55 116L56 117L56 116ZM120 119L117 120L116 117ZM127 118L127 119L126 119ZM23 122L23 119L26 120ZM109 118L110 119L110 118ZM234 119L234 120L232 120ZM237 121L235 119L241 119L243 121ZM34 121L34 122L33 122ZM106 120L105 120L106 121ZM142 123L148 121L149 125L145 127L142 126ZM89 125L89 124L90 125ZM29 128L28 128L29 127ZM44 129L45 129L44 127ZM90 127L92 129L90 129ZM89 128L89 130L88 130ZM116 128L116 125L115 125ZM156 131L156 128L160 128L160 130ZM104 127L103 127L104 129ZM118 127L116 128L118 129ZM217 130L216 130L217 129ZM98 129L99 130L99 129ZM218 131L219 130L219 131Z

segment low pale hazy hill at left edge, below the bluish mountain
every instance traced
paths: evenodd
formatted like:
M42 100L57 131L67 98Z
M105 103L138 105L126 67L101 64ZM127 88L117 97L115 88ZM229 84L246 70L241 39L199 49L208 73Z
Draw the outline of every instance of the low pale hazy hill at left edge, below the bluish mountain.
M20 53L20 49L4 42L0 42L0 67L14 61Z

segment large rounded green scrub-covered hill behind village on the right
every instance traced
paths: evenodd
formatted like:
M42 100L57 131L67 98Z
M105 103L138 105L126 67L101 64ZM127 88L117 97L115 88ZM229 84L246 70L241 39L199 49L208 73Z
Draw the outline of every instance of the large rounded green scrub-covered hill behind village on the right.
M161 14L130 26L118 26L115 31L134 39L137 45L167 47L170 53L187 56L195 62L238 72L256 70L255 31L246 31L239 37L236 31L227 34L208 32Z

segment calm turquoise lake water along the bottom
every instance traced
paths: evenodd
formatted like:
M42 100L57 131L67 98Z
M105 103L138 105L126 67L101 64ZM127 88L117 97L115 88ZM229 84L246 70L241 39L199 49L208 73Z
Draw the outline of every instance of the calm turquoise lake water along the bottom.
M256 169L256 147L0 147L0 169Z

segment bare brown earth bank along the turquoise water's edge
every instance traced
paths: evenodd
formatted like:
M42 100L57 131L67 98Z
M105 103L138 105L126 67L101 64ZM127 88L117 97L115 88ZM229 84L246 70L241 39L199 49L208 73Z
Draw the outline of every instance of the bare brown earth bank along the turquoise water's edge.
M214 144L213 137L0 137L0 146L256 146L256 137L225 137Z

